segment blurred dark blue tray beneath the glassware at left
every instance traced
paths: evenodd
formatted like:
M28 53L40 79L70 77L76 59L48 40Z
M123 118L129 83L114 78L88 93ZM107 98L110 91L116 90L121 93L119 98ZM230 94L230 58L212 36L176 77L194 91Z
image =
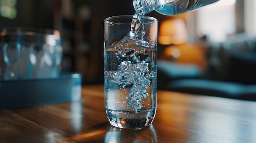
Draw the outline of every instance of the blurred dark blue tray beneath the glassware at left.
M81 77L70 73L51 79L0 80L0 108L79 101Z

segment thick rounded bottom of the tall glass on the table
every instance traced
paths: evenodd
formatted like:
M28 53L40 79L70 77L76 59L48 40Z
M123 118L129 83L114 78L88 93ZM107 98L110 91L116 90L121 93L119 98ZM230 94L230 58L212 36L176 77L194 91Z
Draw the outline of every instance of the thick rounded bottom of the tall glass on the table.
M155 108L150 110L110 110L106 108L108 121L117 128L143 128L150 125L155 117Z

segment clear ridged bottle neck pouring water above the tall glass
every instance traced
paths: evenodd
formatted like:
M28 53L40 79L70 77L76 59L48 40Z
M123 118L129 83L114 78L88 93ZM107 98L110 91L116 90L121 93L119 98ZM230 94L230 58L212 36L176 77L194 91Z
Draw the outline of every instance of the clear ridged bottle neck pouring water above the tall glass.
M145 15L157 7L157 0L133 0L133 7L136 12Z

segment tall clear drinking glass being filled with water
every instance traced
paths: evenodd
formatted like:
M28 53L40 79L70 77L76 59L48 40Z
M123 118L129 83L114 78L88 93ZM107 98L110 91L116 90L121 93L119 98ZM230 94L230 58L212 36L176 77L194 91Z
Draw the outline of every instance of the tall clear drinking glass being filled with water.
M104 20L105 110L118 128L143 128L153 122L157 88L157 20L134 15Z

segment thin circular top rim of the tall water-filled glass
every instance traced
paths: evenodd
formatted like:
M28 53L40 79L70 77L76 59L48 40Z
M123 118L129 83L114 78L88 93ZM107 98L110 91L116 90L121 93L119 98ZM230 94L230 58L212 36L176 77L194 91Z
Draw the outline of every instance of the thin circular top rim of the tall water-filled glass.
M131 24L131 22L130 22L130 23L111 22L111 21L109 21L109 20L114 19L114 18L131 18L131 20L132 20L132 17L133 17L133 15L116 15L116 16L110 16L110 17L106 18L106 19L104 20L104 22L110 23L110 24ZM154 18L154 17L152 17L152 16L141 15L141 17L146 18L146 19L148 19L148 20L152 20L152 22L158 22L157 19ZM152 23L152 22L144 22L144 24L148 24L148 23Z

